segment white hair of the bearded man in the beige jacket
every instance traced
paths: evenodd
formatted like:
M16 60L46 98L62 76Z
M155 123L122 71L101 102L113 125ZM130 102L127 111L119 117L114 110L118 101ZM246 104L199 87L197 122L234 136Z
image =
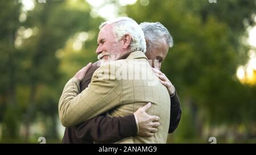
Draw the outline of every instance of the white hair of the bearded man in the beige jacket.
M117 40L121 39L124 35L131 35L131 51L146 52L144 33L135 20L128 17L115 18L101 23L100 30L106 26L106 24L113 24L113 32L115 37L117 37Z

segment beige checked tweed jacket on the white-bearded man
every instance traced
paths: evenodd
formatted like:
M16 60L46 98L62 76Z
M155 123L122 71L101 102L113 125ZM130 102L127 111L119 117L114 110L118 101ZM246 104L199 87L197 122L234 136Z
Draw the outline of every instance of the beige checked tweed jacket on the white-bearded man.
M80 93L80 81L71 78L59 100L60 122L71 127L102 113L126 116L151 102L150 115L160 117L158 132L152 137L134 136L117 143L166 143L170 125L170 95L141 51L131 53L98 68L90 85Z

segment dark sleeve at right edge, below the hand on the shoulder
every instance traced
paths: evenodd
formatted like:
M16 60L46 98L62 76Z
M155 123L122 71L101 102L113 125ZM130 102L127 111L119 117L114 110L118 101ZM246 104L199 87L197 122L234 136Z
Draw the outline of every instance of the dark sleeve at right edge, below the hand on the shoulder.
M173 133L177 126L180 123L181 119L181 107L180 107L180 99L175 90L174 97L171 97L171 117L170 117L170 127L168 133Z

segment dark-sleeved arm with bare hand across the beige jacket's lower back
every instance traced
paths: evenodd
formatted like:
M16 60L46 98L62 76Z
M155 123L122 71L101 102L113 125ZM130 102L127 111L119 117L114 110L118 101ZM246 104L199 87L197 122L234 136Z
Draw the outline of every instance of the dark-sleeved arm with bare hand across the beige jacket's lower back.
M158 131L159 117L146 113L151 103L139 108L133 115L114 117L100 115L76 126L79 139L97 143L113 143L127 137L154 136Z

